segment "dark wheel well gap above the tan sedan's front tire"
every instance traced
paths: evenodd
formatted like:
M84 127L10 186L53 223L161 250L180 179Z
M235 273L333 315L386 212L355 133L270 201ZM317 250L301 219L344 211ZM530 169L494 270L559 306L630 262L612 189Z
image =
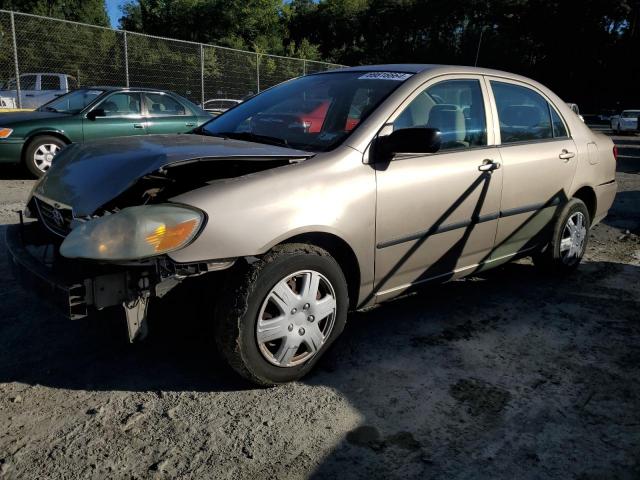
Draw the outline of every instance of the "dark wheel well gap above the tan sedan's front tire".
M340 265L347 280L350 308L356 308L360 293L360 266L356 254L347 242L331 233L316 232L296 235L281 243L309 243L329 252Z

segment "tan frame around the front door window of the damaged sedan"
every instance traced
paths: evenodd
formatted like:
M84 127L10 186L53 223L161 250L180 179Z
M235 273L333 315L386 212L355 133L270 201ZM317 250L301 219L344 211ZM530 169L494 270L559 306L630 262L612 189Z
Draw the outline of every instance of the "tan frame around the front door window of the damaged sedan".
M487 85L484 81L484 76L481 74L471 74L471 73L467 73L467 74L446 73L446 74L429 78L428 80L418 85L410 94L408 94L404 98L404 100L402 100L402 102L400 102L400 104L395 108L393 113L389 115L386 122L382 125L382 127L380 127L378 132L373 136L371 142L369 143L369 147L367 147L366 149L366 152L370 153L371 144L375 141L375 139L378 138L382 133L385 133L387 130L389 130L390 127L393 127L393 122L395 122L398 119L398 117L411 104L411 102L413 102L413 100L415 100L415 98L418 97L418 95L420 95L422 92L424 92L425 90L431 88L432 86L438 83L442 83L450 80L477 80L478 81L478 86L480 87L480 93L482 94L482 101L484 102L484 116L485 116L485 124L487 129L486 145L475 145L475 146L470 146L469 148L448 149L448 150L438 151L435 153L402 154L401 156L392 158L391 161L405 160L408 158L417 158L417 157L436 157L438 155L447 155L449 153L459 154L463 152L472 152L472 151L483 150L483 149L499 146L498 142L496 141L497 139L495 136L495 129L493 128L494 113L492 110L492 105L490 103L490 97L487 92ZM374 162L371 161L371 163L374 163Z

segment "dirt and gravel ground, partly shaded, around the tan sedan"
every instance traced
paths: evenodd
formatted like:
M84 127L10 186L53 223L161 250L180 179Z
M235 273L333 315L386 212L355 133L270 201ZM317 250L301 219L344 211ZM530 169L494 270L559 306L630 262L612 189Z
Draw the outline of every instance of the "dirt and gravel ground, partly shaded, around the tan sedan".
M0 241L0 477L640 478L640 137L615 140L620 192L577 274L521 261L353 314L273 389L175 299L139 345L119 312L61 318ZM0 172L2 224L21 175Z

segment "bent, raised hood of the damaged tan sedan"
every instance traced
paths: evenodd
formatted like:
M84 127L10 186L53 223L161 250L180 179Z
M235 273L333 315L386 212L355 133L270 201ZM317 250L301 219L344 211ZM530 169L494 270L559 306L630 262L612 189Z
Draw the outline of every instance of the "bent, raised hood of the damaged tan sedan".
M208 160L273 160L313 154L285 147L204 135L147 135L72 144L65 147L34 189L75 216L91 215L163 167Z

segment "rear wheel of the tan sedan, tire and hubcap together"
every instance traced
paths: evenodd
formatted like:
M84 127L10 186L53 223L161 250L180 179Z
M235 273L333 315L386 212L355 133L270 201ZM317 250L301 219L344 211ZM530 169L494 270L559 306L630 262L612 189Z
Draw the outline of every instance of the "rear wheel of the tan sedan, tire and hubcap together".
M572 233L570 220L577 235ZM590 226L587 206L582 200L572 198L556 217L549 243L533 256L535 265L560 274L574 271L587 250Z

